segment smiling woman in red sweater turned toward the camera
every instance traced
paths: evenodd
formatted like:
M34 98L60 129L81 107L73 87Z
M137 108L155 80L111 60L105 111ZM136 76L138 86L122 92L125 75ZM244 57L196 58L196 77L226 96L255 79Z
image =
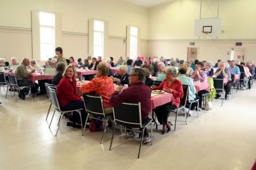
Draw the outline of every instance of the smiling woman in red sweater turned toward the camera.
M63 73L63 78L57 86L57 97L62 111L83 109L81 110L81 116L84 124L86 112L84 109L84 102L77 93L76 77L76 68L74 65L68 65L65 72ZM77 114L77 112L73 112L74 117L77 117ZM67 123L67 125L80 128L79 125L74 123Z

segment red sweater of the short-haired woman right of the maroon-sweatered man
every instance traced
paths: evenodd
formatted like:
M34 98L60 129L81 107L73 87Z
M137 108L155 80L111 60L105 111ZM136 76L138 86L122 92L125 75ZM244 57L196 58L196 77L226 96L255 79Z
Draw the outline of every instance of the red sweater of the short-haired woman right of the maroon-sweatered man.
M175 98L175 101L173 102L173 104L179 107L180 98L183 97L183 89L180 81L175 79L172 85L168 86L168 80L164 79L163 82L160 84L160 86L158 86L156 89L172 89L172 94L173 94L173 97Z

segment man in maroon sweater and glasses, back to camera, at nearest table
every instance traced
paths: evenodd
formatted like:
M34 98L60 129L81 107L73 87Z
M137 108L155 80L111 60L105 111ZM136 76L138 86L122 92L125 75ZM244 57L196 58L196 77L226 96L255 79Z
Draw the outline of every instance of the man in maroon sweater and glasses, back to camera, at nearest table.
M111 107L116 107L124 102L140 102L142 124L148 121L148 114L151 108L151 89L144 84L144 77L145 72L141 68L132 69L129 76L130 87L123 91L120 86L116 87L110 98ZM150 142L151 137L147 132L147 128L145 128L143 143L146 144Z

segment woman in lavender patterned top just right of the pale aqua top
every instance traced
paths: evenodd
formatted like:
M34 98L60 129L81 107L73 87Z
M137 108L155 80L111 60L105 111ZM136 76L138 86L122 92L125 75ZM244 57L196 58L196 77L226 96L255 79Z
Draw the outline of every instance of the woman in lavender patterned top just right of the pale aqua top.
M196 70L191 72L191 79L194 81L207 82L207 73L202 70L204 64L202 62L196 63Z

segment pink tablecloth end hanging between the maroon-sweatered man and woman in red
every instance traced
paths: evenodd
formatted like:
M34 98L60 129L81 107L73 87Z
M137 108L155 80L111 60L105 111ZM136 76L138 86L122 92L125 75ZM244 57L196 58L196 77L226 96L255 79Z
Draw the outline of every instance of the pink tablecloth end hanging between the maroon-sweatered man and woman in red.
M173 102L175 98L171 93L163 93L156 96L151 97L151 110L155 109L159 105L164 105L169 102Z

